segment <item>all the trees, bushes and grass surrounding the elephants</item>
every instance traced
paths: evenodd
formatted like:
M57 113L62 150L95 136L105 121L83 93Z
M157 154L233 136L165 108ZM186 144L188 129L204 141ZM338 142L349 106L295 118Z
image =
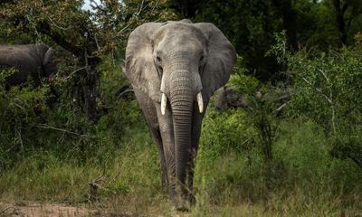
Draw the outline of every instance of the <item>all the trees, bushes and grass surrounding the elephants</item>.
M83 11L75 0L1 1L1 43L45 42L71 55L41 87L6 90L14 71L0 71L0 201L172 215L121 59L138 24L186 17L233 42L228 86L248 101L209 105L191 214L361 214L360 0L101 3Z

